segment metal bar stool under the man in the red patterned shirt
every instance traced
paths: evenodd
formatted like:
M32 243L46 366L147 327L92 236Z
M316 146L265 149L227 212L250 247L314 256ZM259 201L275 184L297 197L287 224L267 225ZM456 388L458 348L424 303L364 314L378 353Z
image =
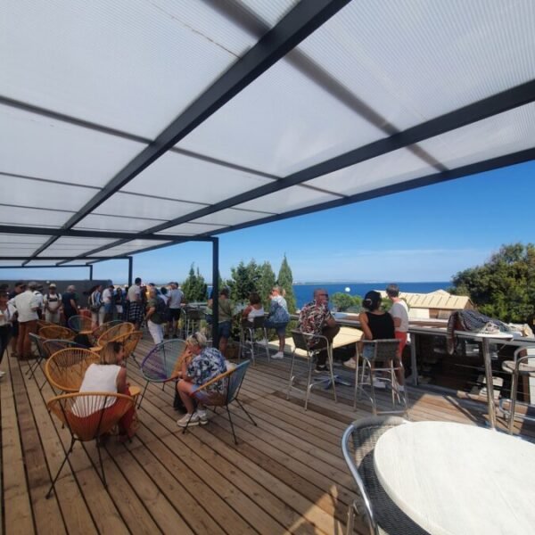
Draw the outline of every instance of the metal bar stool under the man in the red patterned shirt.
M309 371L307 376L307 394L305 397L305 410L307 410L307 407L309 406L309 398L310 398L310 391L317 386L317 384L325 384L325 389L329 388L331 384L333 385L333 397L334 397L334 403L337 402L336 399L336 384L335 379L336 377L333 374L333 346L325 336L322 336L321 334L309 334L309 333L301 333L300 331L292 331L292 339L293 339L293 351L292 351L292 365L290 366L290 382L288 383L288 391L286 392L286 399L290 399L290 391L292 388L296 388L293 386L293 383L298 379L298 375L293 374L293 365L295 362L295 356L297 354L297 350L300 350L300 354L298 355L301 358L306 358L309 361ZM320 340L325 341L325 346L321 348L315 349L314 347L309 347L309 342L319 342ZM317 354L321 350L327 350L327 375L319 376L315 379L312 379L312 367L316 364Z

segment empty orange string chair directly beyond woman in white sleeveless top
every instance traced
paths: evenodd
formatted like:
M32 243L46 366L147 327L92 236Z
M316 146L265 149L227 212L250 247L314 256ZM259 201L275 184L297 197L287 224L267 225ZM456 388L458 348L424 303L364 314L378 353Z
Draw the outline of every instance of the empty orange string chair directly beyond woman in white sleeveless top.
M62 392L77 392L86 369L100 362L100 356L89 350L69 348L60 350L48 358L45 375L54 389Z

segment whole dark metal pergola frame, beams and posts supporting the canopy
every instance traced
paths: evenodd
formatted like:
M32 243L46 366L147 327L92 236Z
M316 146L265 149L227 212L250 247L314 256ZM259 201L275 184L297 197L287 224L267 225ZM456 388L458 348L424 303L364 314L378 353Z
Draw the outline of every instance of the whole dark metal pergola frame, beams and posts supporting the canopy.
M204 0L205 3L210 4L212 9L217 10L228 20L233 21L237 26L250 32L252 35L259 37L256 45L239 58L226 72L218 78L206 91L199 95L176 119L174 119L167 128L165 128L160 136L155 139L144 138L143 136L136 136L128 132L120 131L114 128L104 127L90 121L71 117L56 111L46 110L45 108L37 107L29 103L22 103L12 98L0 95L0 104L10 106L12 108L21 109L23 111L30 111L34 114L42 115L51 119L67 122L81 128L87 128L95 131L105 133L110 136L118 136L137 143L145 144L142 152L129 161L128 164L120 169L119 172L111 178L109 183L103 189L95 188L97 192L86 204L72 216L61 228L37 228L35 226L8 226L0 225L0 234L21 234L21 235L47 235L50 236L48 240L40 245L29 257L15 257L3 256L1 260L21 259L23 264L21 267L0 267L0 268L30 268L28 264L36 259L50 259L60 260L52 267L78 267L65 266L67 262L76 260L86 261L85 266L90 269L92 278L93 264L109 259L128 259L128 282L132 281L132 256L133 254L145 251L154 251L177 243L186 243L191 241L196 242L210 242L212 243L213 252L213 273L212 284L214 288L214 296L218 296L218 237L217 235L225 234L234 230L243 229L251 226L262 225L265 223L279 221L284 218L292 218L304 214L309 214L318 210L327 210L330 208L340 207L346 204L365 201L374 197L388 195L391 193L399 193L422 187L424 185L438 184L440 182L452 180L459 177L465 177L489 171L492 169L499 169L505 166L514 165L525 161L535 160L535 148L514 152L499 156L497 158L479 161L469 165L458 167L457 169L448 169L440 161L432 158L430 154L418 146L418 143L430 139L434 136L446 134L458 128L465 127L483 119L488 119L492 116L498 115L505 111L510 111L528 103L535 102L535 80L530 80L519 86L506 89L496 95L490 95L478 102L470 103L457 110L449 111L439 117L426 120L414 127L399 131L393 125L379 114L370 108L368 104L353 95L350 90L342 86L342 84L333 78L329 73L322 69L320 65L311 60L306 54L299 49L295 49L304 39L309 37L316 29L320 28L326 21L328 21L335 13L339 12L342 7L350 3L350 0L315 0L314 2L300 2L290 12L288 12L281 21L279 21L273 28L269 29L265 21L261 21L259 17L244 9L238 9L235 4L221 0ZM218 111L224 104L230 101L235 95L240 93L244 87L251 84L253 80L258 78L261 74L266 72L276 62L285 58L290 62L294 68L300 71L301 74L308 77L317 86L321 86L330 95L333 95L341 103L344 103L352 111L366 119L370 124L376 128L380 128L385 133L385 137L374 141L372 143L359 146L349 152L342 153L329 160L309 166L306 169L301 169L285 177L277 177L275 175L265 173L258 169L248 169L230 162L220 161L218 159L210 158L201 154L196 154L184 149L179 149L175 145L187 136L194 128L197 128L203 121L210 118L210 116ZM406 182L386 185L366 193L357 193L354 195L344 195L342 193L330 192L325 193L338 197L333 201L322 202L299 210L292 210L284 212L283 214L268 215L265 218L254 219L243 224L234 226L225 226L216 231L207 232L202 235L159 235L162 231L172 227L193 221L198 218L209 216L219 210L234 208L236 205L243 202L249 202L258 199L270 193L283 191L295 185L320 189L313 185L308 185L307 182L317 177L325 176L334 171L348 168L358 163L369 161L393 152L399 149L407 149L413 152L422 161L430 164L436 173L432 173L425 177L418 177L416 179L407 180ZM192 204L200 205L201 208L194 210L184 216L174 218L169 221L159 223L155 226L145 229L140 233L128 232L110 232L110 231L93 231L93 230L77 230L76 226L83 218L86 218L103 202L111 197L114 193L118 193L125 185L139 175L144 169L150 166L154 161L161 157L166 152L178 152L180 154L196 158L203 161L209 161L219 166L238 169L251 173L258 177L268 178L270 182L266 185L261 185L250 191L234 195L226 198L221 202L216 202L211 205L202 205L199 202L191 202ZM2 173L10 177L23 177L12 175L10 173ZM34 180L45 180L38 177L24 177ZM45 180L46 181L46 180ZM89 186L86 186L89 187ZM136 193L130 193L136 194ZM236 209L239 210L239 209ZM84 254L72 257L39 257L50 245L52 245L60 237L80 237L80 238L105 238L115 240L107 245L97 247L92 251L86 251ZM165 241L166 243L158 243L151 247L144 247L136 251L129 251L110 256L95 256L98 253L129 243L132 240L147 240L147 241ZM42 266L45 268L45 266ZM46 266L48 267L48 266ZM35 267L41 268L41 266ZM214 300L214 324L217 326L218 322L218 307L217 299ZM217 328L214 328L214 333ZM217 339L217 334L214 335L214 340Z

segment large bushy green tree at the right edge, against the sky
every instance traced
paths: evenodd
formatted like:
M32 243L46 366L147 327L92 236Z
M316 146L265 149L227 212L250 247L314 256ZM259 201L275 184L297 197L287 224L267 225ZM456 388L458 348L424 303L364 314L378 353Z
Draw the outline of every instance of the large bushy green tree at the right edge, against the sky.
M502 245L482 266L460 271L450 292L468 295L482 314L528 322L535 313L535 246Z

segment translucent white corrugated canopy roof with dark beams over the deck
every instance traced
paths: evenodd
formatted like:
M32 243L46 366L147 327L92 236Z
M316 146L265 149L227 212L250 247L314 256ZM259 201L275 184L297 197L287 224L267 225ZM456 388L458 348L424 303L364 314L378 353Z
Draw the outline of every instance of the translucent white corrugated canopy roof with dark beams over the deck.
M532 160L533 28L532 0L7 0L0 264Z

